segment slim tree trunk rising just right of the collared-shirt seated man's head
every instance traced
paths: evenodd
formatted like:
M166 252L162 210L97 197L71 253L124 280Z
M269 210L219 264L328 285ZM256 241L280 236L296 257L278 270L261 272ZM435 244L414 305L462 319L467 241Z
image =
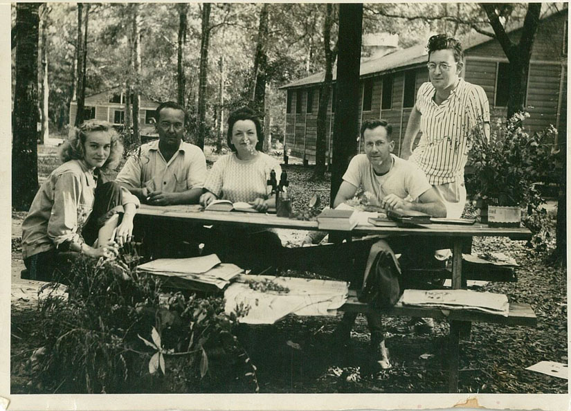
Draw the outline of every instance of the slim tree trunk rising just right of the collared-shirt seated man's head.
M206 134L206 80L208 78L208 43L210 42L210 3L202 4L200 73L198 88L198 136L196 145L204 149Z

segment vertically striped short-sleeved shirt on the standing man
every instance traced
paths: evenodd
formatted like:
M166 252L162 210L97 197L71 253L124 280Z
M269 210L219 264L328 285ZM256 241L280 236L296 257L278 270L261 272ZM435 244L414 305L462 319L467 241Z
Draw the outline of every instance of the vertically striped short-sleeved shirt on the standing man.
M409 160L424 171L432 185L464 181L468 160L469 136L490 121L486 92L482 87L460 78L441 104L433 100L436 89L430 82L420 86L416 109L421 113L422 136Z

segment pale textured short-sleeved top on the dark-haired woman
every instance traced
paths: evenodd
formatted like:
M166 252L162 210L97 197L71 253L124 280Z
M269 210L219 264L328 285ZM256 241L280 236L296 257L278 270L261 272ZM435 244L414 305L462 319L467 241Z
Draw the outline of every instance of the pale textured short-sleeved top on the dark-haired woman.
M258 152L255 158L248 161L240 160L235 153L226 154L212 165L204 188L233 203L267 198L271 191L267 184L271 170L279 183L282 167L267 154Z

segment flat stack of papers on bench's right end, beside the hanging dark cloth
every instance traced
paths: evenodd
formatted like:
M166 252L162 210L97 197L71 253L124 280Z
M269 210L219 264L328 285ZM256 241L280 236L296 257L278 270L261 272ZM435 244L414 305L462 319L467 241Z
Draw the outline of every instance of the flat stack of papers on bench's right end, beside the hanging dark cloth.
M405 290L400 302L416 307L478 310L504 317L509 313L505 294L471 290Z

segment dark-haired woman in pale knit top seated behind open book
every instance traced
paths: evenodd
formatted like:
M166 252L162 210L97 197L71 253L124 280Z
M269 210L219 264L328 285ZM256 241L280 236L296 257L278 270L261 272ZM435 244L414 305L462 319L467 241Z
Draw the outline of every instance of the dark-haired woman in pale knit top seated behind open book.
M206 207L216 199L226 199L233 203L250 203L259 212L275 208L275 197L269 197L267 181L271 170L279 181L282 169L278 161L261 151L264 141L262 122L252 109L242 107L230 113L227 141L232 153L222 156L212 166L204 183L205 192L200 197L201 205ZM217 238L212 241L212 250L242 265L253 266L256 258L264 259L262 255L266 251L275 253L282 245L278 235L268 230L215 229L213 234Z

